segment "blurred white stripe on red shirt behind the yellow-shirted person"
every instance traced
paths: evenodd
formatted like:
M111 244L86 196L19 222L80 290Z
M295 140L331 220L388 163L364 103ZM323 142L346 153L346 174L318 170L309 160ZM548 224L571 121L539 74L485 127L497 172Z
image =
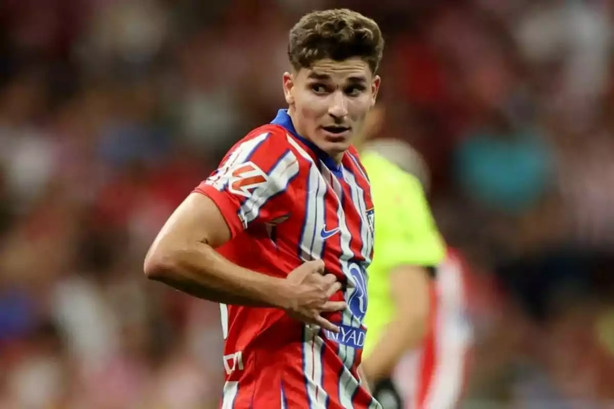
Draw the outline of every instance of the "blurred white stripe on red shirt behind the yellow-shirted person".
M460 268L446 261L438 274L440 305L435 318L436 365L425 399L427 408L453 408L461 394L471 331L467 323L459 322L459 312L465 308Z

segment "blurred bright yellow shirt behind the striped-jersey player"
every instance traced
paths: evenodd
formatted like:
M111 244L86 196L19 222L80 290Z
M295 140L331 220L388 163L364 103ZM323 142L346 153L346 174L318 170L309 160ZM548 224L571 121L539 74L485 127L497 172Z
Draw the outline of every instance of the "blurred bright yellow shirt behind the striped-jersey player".
M362 153L360 161L367 169L375 207L375 253L368 268L368 331L363 350L368 356L394 318L391 270L403 265L435 267L445 256L445 244L418 178L375 152Z

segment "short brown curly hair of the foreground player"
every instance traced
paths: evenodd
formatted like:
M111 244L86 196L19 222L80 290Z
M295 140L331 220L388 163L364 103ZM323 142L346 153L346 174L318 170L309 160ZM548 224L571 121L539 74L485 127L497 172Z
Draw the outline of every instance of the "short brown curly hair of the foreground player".
M378 24L349 9L308 13L290 30L288 57L296 70L309 68L319 59L359 57L375 74L383 52Z

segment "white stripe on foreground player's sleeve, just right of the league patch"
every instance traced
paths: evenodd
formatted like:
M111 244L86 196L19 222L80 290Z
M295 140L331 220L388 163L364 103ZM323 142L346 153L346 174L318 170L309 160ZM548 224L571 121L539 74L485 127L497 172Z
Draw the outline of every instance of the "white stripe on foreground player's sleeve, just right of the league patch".
M298 174L297 157L290 151L279 161L268 174L267 183L258 186L239 209L239 216L247 226L257 218L260 208L270 199L288 187L290 180Z

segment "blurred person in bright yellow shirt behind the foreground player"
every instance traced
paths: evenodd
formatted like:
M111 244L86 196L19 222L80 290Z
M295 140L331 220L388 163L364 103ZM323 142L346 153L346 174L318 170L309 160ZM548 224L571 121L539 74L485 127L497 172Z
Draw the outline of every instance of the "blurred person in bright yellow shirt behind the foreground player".
M383 110L373 110L371 116L366 137L383 120ZM431 281L445 257L445 243L421 181L414 175L421 169L416 151L400 140L378 139L362 147L360 158L376 209L362 368L384 409L403 408L393 373L402 358L424 340Z

